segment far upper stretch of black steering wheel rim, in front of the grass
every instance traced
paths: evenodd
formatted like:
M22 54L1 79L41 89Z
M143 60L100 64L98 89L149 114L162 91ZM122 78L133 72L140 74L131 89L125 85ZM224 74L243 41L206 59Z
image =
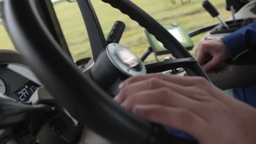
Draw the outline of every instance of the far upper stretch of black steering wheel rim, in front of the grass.
M109 3L112 7L119 9L122 13L128 15L131 19L138 22L141 27L147 29L149 33L163 43L164 47L171 52L177 59L191 58L193 56L184 48L183 45L168 32L161 24L159 24L152 16L149 16L145 11L132 3L130 0L101 0L104 3ZM194 59L195 60L195 59ZM189 76L201 76L211 82L210 78L198 63L191 64L187 67Z

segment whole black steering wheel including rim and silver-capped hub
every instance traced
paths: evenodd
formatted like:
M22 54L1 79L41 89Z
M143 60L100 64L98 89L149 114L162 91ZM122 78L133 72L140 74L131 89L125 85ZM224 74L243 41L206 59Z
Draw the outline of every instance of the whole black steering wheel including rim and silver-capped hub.
M177 58L175 67L187 67L188 75L209 80L189 52L141 8L130 0L102 1L130 16L162 42ZM149 122L120 107L99 85L101 79L116 79L108 77L109 71L104 70L112 69L114 73L111 75L117 73L118 77L130 77L146 74L144 64L127 48L109 44L107 48L102 48L103 51L95 59L92 76L81 75L43 23L36 7L37 0L5 0L6 21L14 45L57 101L80 123L113 143L155 144L155 131ZM132 60L127 62L122 53L128 54ZM151 69L154 69L153 66ZM171 69L170 66L165 63L160 69ZM94 79L98 82L95 83Z

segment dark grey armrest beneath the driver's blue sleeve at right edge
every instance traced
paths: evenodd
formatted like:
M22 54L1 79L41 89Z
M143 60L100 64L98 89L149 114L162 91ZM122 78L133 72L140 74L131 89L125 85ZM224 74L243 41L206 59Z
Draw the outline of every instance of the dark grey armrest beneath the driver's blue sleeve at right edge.
M208 74L213 84L222 90L256 85L256 56L242 56L232 64L221 63L221 74Z

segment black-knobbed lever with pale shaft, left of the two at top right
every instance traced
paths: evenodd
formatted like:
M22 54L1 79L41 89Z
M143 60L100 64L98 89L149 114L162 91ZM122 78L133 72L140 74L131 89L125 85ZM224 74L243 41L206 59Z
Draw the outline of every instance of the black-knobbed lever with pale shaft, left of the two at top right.
M219 21L221 22L221 24L226 27L227 29L229 29L229 26L225 23L225 21L223 21L221 19L221 17L219 16L219 12L217 11L217 9L208 1L208 0L204 0L203 1L203 7L205 8L206 11L208 11L208 13L211 14L211 16L217 17L219 19Z

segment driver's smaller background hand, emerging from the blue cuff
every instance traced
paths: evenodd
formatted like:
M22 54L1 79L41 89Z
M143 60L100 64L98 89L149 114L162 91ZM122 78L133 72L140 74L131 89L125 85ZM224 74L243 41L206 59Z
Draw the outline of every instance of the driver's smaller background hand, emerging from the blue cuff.
M196 59L205 72L209 72L228 58L229 52L221 40L204 40L198 45Z

